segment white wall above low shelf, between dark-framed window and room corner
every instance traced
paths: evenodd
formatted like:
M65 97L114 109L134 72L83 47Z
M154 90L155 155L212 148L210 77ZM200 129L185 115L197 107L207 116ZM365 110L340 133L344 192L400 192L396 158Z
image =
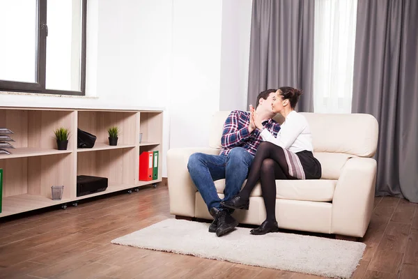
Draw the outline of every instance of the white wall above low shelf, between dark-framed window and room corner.
M167 105L171 1L100 0L97 92L116 103Z

